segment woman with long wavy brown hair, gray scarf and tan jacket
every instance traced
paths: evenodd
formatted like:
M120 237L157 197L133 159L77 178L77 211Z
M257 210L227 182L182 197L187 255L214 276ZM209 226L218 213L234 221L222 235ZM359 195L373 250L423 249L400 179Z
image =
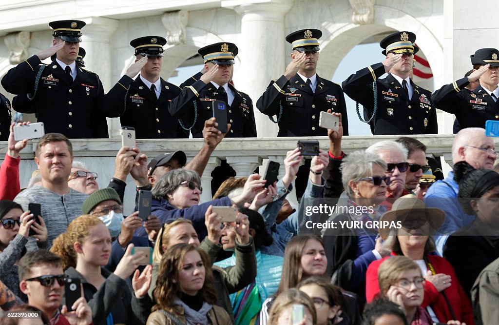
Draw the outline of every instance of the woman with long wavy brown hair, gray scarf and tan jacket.
M179 243L163 254L154 289L156 305L147 325L231 324L227 311L215 305L210 257L201 248Z

